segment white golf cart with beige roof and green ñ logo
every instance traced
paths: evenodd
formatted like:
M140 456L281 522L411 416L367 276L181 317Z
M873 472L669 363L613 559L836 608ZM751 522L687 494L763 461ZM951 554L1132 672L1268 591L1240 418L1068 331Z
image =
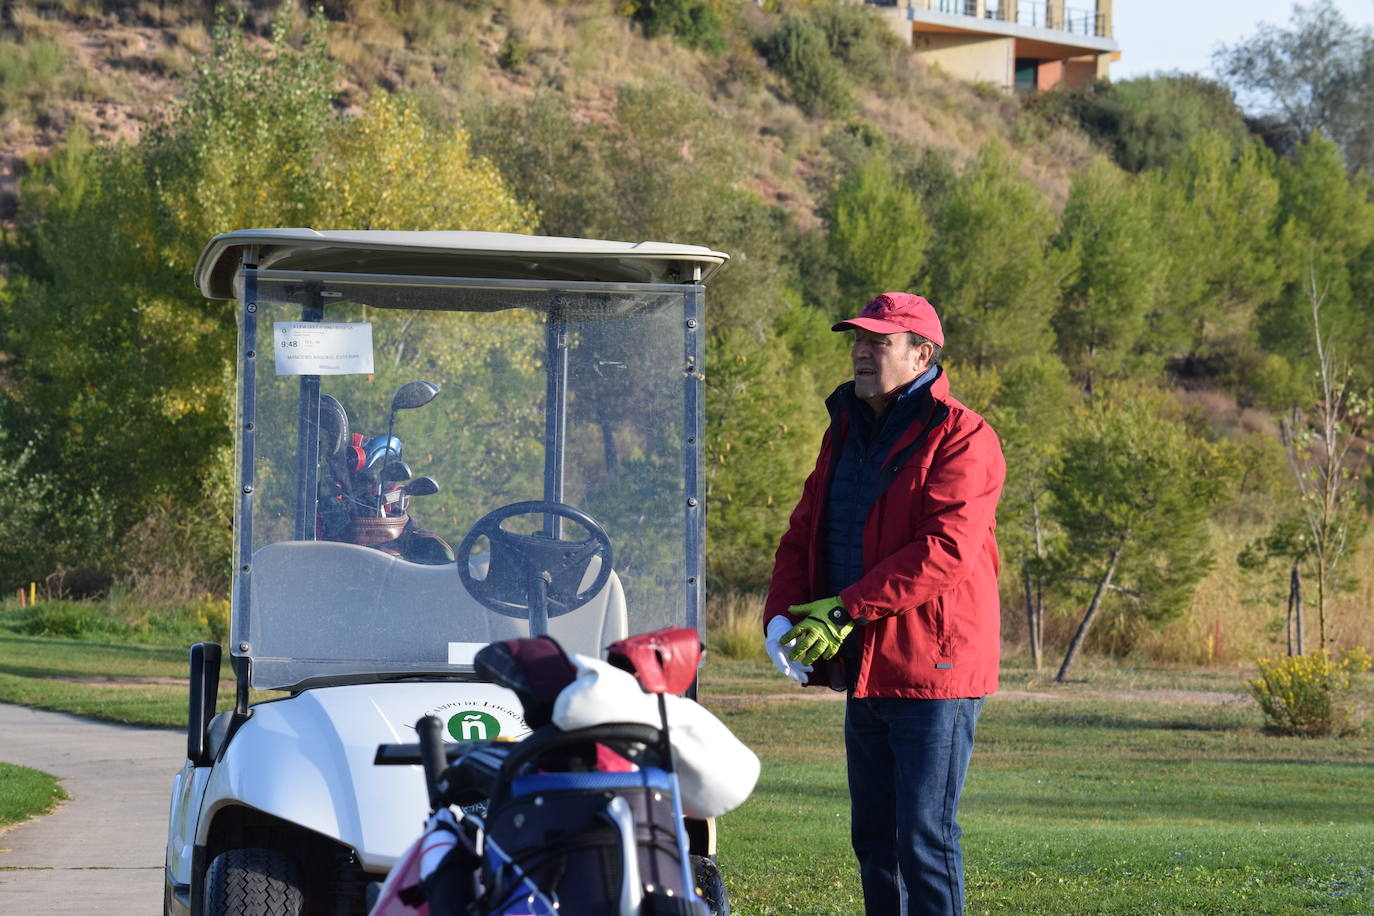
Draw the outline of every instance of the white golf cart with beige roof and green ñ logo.
M705 630L703 282L725 254L486 232L246 229L232 709L191 650L165 912L363 913L427 810L379 744L521 739L482 647ZM713 825L688 821L710 868ZM724 909L723 906L717 909Z

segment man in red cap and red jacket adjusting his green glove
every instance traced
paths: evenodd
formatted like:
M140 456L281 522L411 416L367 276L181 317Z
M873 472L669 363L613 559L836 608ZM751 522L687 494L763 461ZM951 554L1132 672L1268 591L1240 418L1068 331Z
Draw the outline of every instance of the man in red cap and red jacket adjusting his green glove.
M1006 463L949 397L934 309L883 293L855 378L778 545L764 628L778 669L845 689L851 839L870 916L962 913L955 820L1000 658L993 512Z

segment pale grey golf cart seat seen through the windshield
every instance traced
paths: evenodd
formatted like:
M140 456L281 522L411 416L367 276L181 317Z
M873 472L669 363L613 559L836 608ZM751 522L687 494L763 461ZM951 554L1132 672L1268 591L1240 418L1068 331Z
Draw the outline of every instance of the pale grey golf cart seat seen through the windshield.
M486 555L470 560L482 578ZM584 581L600 571L594 558ZM357 672L357 662L396 672L442 670L470 665L473 654L499 640L529 636L523 617L482 607L464 588L456 564L422 566L356 544L280 541L253 556L253 604L272 602L291 614L253 618L254 685L293 687L293 672L308 666L317 676L330 662ZM348 600L344 600L344 599ZM346 608L367 607L365 619ZM599 656L603 647L628 636L625 595L611 571L585 604L551 617L548 633L572 651ZM304 665L302 665L304 663ZM278 669L271 673L271 669Z

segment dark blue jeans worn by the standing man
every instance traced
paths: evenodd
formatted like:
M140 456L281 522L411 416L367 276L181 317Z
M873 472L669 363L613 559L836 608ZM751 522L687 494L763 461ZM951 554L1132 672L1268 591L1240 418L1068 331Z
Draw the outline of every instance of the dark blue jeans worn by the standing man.
M867 916L963 913L959 792L982 698L845 705L851 842Z

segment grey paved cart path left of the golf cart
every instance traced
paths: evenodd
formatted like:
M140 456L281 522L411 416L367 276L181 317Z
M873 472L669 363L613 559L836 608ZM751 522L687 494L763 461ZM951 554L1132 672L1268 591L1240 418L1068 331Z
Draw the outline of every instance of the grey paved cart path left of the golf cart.
M0 761L52 773L70 801L0 834L0 913L162 912L172 777L185 733L0 703Z

